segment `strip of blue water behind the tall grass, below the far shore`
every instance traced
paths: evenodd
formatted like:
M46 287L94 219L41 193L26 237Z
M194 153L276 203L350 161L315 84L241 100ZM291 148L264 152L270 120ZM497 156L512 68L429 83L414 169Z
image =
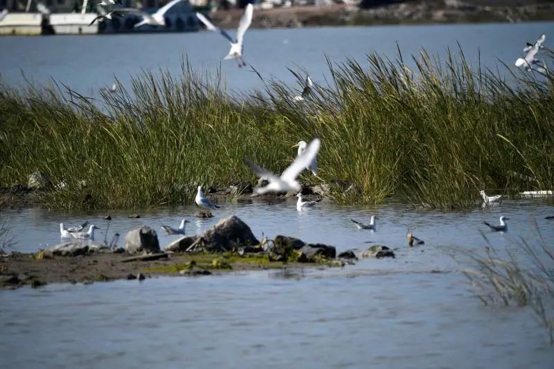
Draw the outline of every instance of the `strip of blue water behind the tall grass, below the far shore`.
M277 78L296 86L288 68L305 68L316 83L328 78L327 56L332 62L355 58L365 65L365 55L375 52L394 58L397 45L407 64L422 47L445 56L447 47L456 51L459 42L468 59L494 68L498 60L512 66L526 42L542 33L553 34L553 22L522 24L467 24L437 26L323 27L249 30L244 58L264 78ZM234 30L233 30L234 32ZM234 33L233 33L234 34ZM548 38L546 46L548 46ZM0 37L2 79L21 85L24 78L48 83L64 82L85 96L111 86L116 75L124 86L141 70L181 72L188 58L195 69L215 72L221 66L230 91L263 89L264 84L249 68L238 69L234 61L222 61L229 43L211 32L91 35L56 37ZM9 51L9 52L8 52ZM514 67L515 68L515 67ZM300 86L298 86L301 89Z

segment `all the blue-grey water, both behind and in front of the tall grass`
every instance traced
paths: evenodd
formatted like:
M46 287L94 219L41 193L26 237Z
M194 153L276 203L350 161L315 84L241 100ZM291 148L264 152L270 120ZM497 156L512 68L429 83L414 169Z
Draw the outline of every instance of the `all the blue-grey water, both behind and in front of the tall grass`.
M464 26L379 26L249 30L245 59L264 78L293 83L287 67L303 67L315 82L327 76L324 55L334 62L375 51L394 57L396 42L404 57L444 55L456 41L472 62L498 60L511 65L526 41L553 33L554 23ZM547 36L548 37L548 36ZM547 42L548 44L548 39ZM179 74L181 58L193 68L221 65L229 90L260 89L262 82L234 62L222 62L228 45L212 33L99 35L87 37L0 37L4 81L21 85L19 73L36 82L50 78L91 96L117 75L128 84L141 69ZM407 58L406 58L407 59ZM529 308L484 307L459 272L467 260L453 249L482 253L483 220L510 217L506 234L485 233L494 246L533 240L537 221L546 240L554 236L551 203L504 201L501 208L460 212L414 210L404 204L375 207L319 204L298 213L294 199L278 204L223 204L213 219L192 217L181 206L141 213L57 212L36 208L6 210L0 222L10 227L14 249L37 251L60 242L59 223L84 219L107 229L109 238L148 224L165 246L177 236L161 224L192 223L202 233L222 217L238 215L261 238L278 234L337 246L339 251L385 244L397 258L360 260L339 269L252 271L202 278L119 280L94 285L53 284L40 289L0 291L0 367L551 367L553 349L544 327ZM350 218L377 215L377 232L359 231ZM411 228L425 246L406 247ZM369 242L369 243L366 243ZM120 241L120 245L123 240Z

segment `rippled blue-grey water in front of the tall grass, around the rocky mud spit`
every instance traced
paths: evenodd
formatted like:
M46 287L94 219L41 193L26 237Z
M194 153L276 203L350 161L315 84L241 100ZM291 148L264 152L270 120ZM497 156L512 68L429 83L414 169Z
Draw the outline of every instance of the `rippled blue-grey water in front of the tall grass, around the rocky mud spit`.
M253 271L202 278L151 278L94 285L53 284L0 291L0 357L6 367L524 367L551 366L553 349L528 308L484 307L459 272L467 260L451 247L482 253L483 220L510 217L510 231L490 233L492 244L518 253L510 237L554 236L554 207L539 200L507 200L501 207L461 212L319 204L298 212L279 204L222 204L213 219L195 219L193 206L127 218L111 212L110 233L148 224L165 245L161 224L190 219L201 233L235 214L261 237L278 234L324 242L339 251L367 241L397 247L397 258L299 271ZM377 215L377 232L350 218ZM82 219L105 230L104 213L8 210L2 221L15 249L35 251L59 241L58 223ZM425 246L406 247L411 227ZM98 233L97 240L102 239ZM511 246L510 246L511 245ZM445 247L450 246L450 247ZM523 255L521 255L524 258ZM479 348L476 350L476 348ZM0 364L1 366L1 364Z

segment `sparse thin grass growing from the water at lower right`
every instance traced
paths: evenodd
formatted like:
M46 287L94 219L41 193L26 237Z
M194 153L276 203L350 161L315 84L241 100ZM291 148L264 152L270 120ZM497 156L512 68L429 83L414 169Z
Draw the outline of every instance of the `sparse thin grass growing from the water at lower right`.
M463 273L484 305L530 306L554 345L554 250L533 224L537 242L520 237L514 240L516 251L494 248L482 233L487 255L465 253L475 267Z

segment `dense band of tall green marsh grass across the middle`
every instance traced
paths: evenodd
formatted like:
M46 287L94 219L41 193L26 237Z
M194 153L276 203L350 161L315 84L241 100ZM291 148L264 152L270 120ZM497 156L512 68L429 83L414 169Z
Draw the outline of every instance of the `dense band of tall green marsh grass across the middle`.
M39 195L49 208L189 204L198 185L255 181L244 156L282 172L292 145L319 136L319 176L301 179L350 183L347 195L330 186L339 203L395 195L462 208L483 188L554 188L550 74L514 71L508 83L500 75L511 67L483 70L461 51L413 60L414 71L400 51L395 60L328 61L330 79L305 102L276 80L262 81L263 91L226 93L219 71L198 73L186 62L181 75L143 71L100 101L60 84L3 85L0 184L46 172L67 184ZM304 73L292 73L301 86Z

